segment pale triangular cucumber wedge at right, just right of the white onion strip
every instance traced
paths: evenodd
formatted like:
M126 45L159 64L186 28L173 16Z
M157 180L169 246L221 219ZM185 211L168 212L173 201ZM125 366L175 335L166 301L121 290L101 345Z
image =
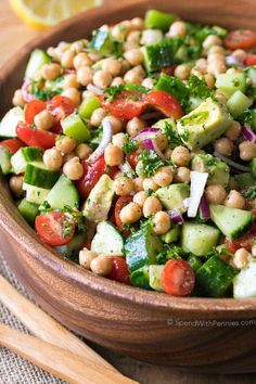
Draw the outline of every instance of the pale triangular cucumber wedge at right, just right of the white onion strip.
M209 209L212 220L231 240L246 232L253 221L253 214L248 210L214 204L209 206Z

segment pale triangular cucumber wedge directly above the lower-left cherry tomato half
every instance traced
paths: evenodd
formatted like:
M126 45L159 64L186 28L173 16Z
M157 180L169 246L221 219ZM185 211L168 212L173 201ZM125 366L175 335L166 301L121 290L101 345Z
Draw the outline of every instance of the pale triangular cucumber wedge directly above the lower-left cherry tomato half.
M46 202L52 209L63 209L65 206L79 206L79 194L74 183L62 175L48 194Z

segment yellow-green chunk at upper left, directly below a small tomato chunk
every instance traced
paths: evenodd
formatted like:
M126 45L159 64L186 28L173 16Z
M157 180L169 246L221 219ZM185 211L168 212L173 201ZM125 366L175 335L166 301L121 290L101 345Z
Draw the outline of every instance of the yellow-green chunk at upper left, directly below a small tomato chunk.
M76 112L61 120L61 125L63 132L76 140L77 143L82 143L90 139L90 131L87 124L82 121Z

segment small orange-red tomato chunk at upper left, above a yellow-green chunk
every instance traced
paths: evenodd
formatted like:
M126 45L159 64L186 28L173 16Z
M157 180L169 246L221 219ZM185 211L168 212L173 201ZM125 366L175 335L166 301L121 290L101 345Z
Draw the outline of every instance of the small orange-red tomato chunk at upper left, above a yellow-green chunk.
M49 112L54 116L55 121L60 121L75 111L74 102L61 94L55 95L47 103Z

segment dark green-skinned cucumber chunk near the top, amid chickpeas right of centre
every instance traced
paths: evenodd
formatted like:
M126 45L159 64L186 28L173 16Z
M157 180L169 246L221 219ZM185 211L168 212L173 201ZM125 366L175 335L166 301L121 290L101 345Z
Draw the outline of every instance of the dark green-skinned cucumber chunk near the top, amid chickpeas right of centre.
M174 50L170 40L163 40L142 50L144 65L148 72L155 72L165 66L174 64Z

